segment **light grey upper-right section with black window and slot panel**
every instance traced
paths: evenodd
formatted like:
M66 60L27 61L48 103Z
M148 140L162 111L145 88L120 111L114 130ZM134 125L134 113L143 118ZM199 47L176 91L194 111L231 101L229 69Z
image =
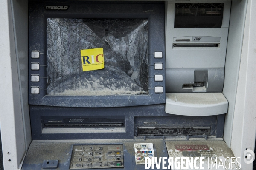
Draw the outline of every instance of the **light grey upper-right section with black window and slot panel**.
M224 68L231 7L224 2L167 3L166 68Z

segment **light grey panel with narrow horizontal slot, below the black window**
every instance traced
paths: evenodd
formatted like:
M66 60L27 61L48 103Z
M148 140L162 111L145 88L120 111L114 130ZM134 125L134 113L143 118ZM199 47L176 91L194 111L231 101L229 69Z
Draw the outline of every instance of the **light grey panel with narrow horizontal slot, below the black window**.
M166 68L224 68L228 28L167 28ZM173 42L175 37L221 37L218 47L173 47L173 44L209 42Z

